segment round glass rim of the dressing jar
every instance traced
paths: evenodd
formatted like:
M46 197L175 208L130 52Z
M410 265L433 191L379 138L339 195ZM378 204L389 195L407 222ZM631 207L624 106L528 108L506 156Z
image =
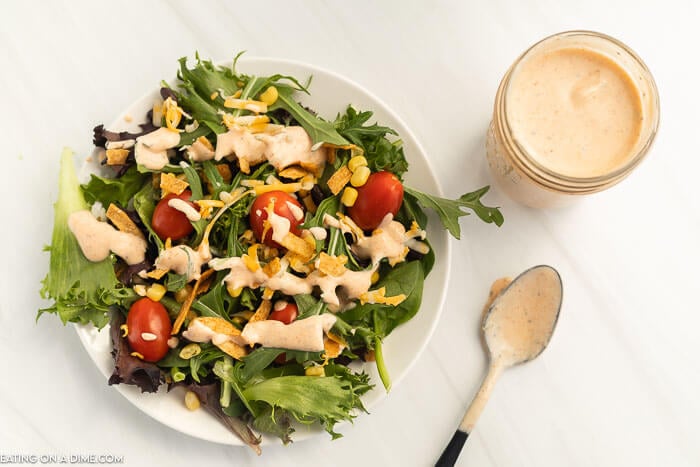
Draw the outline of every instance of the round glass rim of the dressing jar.
M651 98L651 115L650 117L652 118L652 121L650 123L650 129L648 130L648 135L645 135L646 140L644 141L644 144L641 145L636 150L636 153L630 157L624 164L622 164L620 167L616 168L615 170L612 170L608 173L602 174L602 175L597 175L593 177L575 177L563 173L556 172L542 163L538 162L534 157L530 155L530 153L520 144L518 141L516 141L514 138L512 138L512 129L511 126L508 122L508 112L506 108L506 96L508 95L508 91L510 89L510 83L511 83L511 77L513 75L513 71L516 69L516 67L523 62L525 59L527 59L531 53L533 53L534 50L538 49L542 45L546 44L547 42L553 41L555 39L559 38L569 38L569 37L593 37L595 39L602 39L603 41L608 42L611 44L613 47L616 47L620 49L622 52L627 54L629 58L632 59L632 61L635 63L636 66L639 67L640 71L643 74L644 80L646 82L646 85L649 87L649 92L650 92L650 98ZM497 106L497 112L496 115L500 113L500 117L498 118L498 126L501 128L502 136L508 135L508 138L504 138L504 141L507 143L507 146L509 146L509 149L514 154L517 154L518 157L515 157L514 159L516 164L520 167L520 169L528 174L531 178L533 178L534 181L539 182L542 185L548 186L550 188L553 188L555 190L560 190L560 191L571 191L571 192L577 192L577 193L591 193L591 192L596 192L600 191L602 189L605 189L609 186L612 186L622 179L624 179L631 171L637 167L641 163L641 161L645 158L646 154L648 153L649 149L651 148L654 139L656 137L656 133L658 132L658 127L659 127L659 109L660 109L660 101L659 101L659 93L658 89L656 86L656 82L654 81L654 78L649 71L649 68L647 65L644 63L644 61L637 55L630 47L628 47L626 44L623 42L619 41L618 39L615 39L614 37L611 37L607 34L600 33L597 31L590 31L590 30L569 30L569 31L563 31L559 32L556 34L549 35L545 37L544 39L539 40L532 46L530 46L528 49L526 49L520 56L513 62L513 65L508 69L506 75L503 78L503 81L501 82L501 85L498 90L498 98L496 99L496 106Z

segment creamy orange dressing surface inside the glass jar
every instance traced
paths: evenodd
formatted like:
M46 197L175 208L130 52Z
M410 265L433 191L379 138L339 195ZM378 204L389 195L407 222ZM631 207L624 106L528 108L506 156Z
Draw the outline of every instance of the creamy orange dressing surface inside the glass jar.
M545 48L514 69L506 107L515 141L542 166L597 177L635 155L643 122L632 77L602 52Z

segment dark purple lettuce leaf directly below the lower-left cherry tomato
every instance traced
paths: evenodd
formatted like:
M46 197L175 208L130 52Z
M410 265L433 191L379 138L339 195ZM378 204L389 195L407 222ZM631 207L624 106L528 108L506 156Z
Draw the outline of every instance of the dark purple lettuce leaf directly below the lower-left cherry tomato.
M129 345L121 336L119 329L126 322L124 315L118 311L112 313L110 335L112 336L112 357L114 373L109 378L109 385L130 384L138 386L141 392L156 392L163 379L155 364L144 362L131 356Z

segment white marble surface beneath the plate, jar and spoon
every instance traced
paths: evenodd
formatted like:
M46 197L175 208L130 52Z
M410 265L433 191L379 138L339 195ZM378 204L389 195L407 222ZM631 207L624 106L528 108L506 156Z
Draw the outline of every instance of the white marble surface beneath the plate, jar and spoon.
M0 14L0 455L113 454L127 465L430 465L478 387L478 320L492 280L549 263L565 303L550 348L506 373L459 465L700 465L700 61L696 2L3 2ZM301 60L379 95L426 148L444 192L489 183L484 134L505 69L550 33L632 46L659 86L661 131L631 178L572 208L497 191L496 229L453 241L442 319L390 397L344 428L249 450L161 426L108 387L78 337L34 322L58 154L110 121L195 50Z

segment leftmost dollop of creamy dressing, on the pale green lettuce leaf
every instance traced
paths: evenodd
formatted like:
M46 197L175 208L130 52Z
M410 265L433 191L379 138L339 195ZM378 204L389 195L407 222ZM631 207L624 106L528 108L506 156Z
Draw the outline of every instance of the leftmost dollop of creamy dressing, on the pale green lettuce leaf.
M90 261L102 261L109 256L110 251L129 265L141 263L145 259L148 247L146 240L98 221L88 210L72 213L68 217L68 228Z

